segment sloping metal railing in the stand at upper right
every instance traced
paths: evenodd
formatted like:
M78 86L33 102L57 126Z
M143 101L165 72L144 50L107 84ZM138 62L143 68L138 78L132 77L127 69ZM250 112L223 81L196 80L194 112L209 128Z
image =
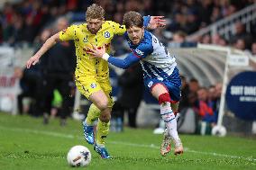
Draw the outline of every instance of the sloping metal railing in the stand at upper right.
M206 28L203 28L189 36L187 36L187 40L197 40L198 37L203 36L205 34L210 34L211 36L218 33L221 36L224 36L225 39L229 39L231 35L234 34L233 24L235 22L242 22L242 24L246 25L246 30L250 31L251 22L256 21L256 3L251 4L250 6L242 9L237 13L233 13L232 15L210 24Z

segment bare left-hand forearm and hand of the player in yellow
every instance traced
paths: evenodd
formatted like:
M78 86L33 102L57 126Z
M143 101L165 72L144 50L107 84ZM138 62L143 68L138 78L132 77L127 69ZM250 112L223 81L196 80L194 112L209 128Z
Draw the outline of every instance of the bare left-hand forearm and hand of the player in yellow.
M38 63L41 56L54 44L56 44L59 41L59 32L52 35L48 40L44 42L44 44L41 46L41 49L39 49L33 56L27 61L27 68L30 68L32 65L35 65Z

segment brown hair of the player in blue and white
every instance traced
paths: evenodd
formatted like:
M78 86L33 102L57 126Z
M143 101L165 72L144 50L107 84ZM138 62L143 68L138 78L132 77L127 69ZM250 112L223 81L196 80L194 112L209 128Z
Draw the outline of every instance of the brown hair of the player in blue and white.
M125 25L126 29L129 29L133 26L143 27L143 17L140 13L130 11L124 13L123 15L123 25Z

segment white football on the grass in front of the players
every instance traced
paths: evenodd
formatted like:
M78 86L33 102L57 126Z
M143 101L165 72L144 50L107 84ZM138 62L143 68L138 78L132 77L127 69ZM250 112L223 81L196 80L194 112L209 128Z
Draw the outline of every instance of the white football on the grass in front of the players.
M88 166L91 162L91 152L84 146L70 148L67 160L70 166Z

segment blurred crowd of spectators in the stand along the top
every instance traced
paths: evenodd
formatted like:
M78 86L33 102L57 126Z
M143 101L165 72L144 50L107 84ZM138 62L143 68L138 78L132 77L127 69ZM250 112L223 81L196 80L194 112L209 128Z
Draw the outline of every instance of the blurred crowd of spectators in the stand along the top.
M17 45L20 42L34 44L41 31L55 22L59 16L72 13L69 22L84 22L87 6L92 3L101 4L106 12L105 19L122 22L123 13L138 11L144 15L163 15L168 25L157 34L162 41L173 47L173 42L184 42L186 36L230 16L242 8L255 3L254 0L16 0L16 3L5 3L0 12L0 42ZM235 23L235 34L231 39L216 34L198 37L197 42L218 45L232 45L237 49L251 50L255 54L256 23L245 29L241 22ZM248 32L250 30L250 32ZM252 36L250 36L250 34ZM121 38L120 38L121 39ZM120 47L123 40L114 48L122 54L125 48ZM191 43L184 43L183 46ZM192 44L193 45L193 44ZM124 46L125 47L125 46Z

